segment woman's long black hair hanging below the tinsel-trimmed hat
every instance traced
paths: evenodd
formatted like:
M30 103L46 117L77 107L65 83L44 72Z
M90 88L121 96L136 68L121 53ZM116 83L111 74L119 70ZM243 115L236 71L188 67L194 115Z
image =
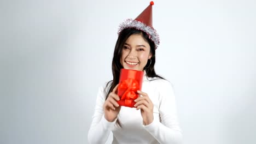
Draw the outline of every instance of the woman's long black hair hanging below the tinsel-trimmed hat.
M143 31L140 31L136 28L123 29L123 31L121 31L119 33L117 43L115 44L115 50L114 50L114 53L113 53L113 60L112 60L113 80L109 81L107 83L106 88L105 88L107 90L106 99L108 98L108 95L110 94L110 92L113 91L114 87L117 86L117 84L119 83L120 70L123 68L123 65L120 62L123 47L124 47L124 44L125 44L126 40L132 34L141 34L142 37L144 38L144 40L146 40L147 43L150 46L150 53L152 53L151 62L150 62L150 60L148 60L148 63L144 67L144 70L146 71L147 77L158 77L159 79L164 79L163 77L161 77L161 76L159 76L155 73L155 68L154 68L154 66L155 66L155 43L152 40L150 40L148 35ZM121 127L121 123L118 119L117 119L117 123Z

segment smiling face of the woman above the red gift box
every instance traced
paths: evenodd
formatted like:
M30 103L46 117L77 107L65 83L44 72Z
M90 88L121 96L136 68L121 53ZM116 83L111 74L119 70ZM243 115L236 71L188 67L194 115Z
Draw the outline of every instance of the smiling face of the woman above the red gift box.
M125 69L141 70L152 57L150 46L141 34L132 34L122 50L121 64Z

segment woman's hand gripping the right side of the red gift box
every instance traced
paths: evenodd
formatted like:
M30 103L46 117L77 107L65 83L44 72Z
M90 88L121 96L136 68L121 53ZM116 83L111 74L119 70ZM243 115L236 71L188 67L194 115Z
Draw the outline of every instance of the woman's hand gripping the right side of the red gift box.
M153 116L153 108L154 105L152 101L149 99L147 93L143 93L141 91L137 91L138 94L141 94L142 97L138 97L135 99L136 104L134 105L136 107L136 110L141 110L141 116L143 118L143 124L148 125L153 122L154 116Z

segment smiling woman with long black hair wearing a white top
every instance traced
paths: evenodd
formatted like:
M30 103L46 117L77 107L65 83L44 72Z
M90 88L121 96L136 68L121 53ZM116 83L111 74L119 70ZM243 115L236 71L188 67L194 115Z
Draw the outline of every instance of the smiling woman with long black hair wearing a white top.
M152 5L150 3L143 13L147 13ZM113 80L98 91L88 134L90 143L105 143L110 131L113 133L112 143L181 142L173 88L154 70L158 35L152 25L142 19L137 17L120 26L112 61ZM144 71L142 91L137 91L141 97L135 100L136 108L117 103L121 68Z

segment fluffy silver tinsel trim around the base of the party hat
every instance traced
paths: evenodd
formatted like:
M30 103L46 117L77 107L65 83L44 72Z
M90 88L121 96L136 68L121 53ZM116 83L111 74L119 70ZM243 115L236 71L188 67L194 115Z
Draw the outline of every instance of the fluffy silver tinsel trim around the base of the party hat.
M151 39L155 43L155 49L158 48L160 43L159 35L158 33L156 33L156 30L153 27L147 26L143 22L137 20L127 19L119 25L118 35L120 35L121 31L123 31L125 28L136 28L138 30L146 32L149 39Z

